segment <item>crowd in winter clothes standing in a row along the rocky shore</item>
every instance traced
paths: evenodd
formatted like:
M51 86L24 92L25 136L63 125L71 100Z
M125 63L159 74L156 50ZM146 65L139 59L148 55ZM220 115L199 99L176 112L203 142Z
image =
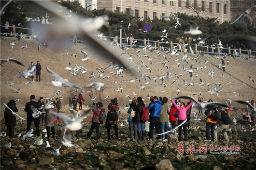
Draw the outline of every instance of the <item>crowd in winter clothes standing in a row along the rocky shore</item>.
M83 92L79 92L79 96L74 95L72 98L73 109L76 110L77 102L79 103L79 109L82 109L82 104L84 101ZM187 105L184 102L181 102L179 99L175 101L171 100L172 106L169 110L168 108L168 98L167 97L158 97L151 96L150 104L146 106L142 97L134 97L130 108L128 109L128 125L129 125L129 135L128 137L131 139L135 139L138 141L145 140L146 135L148 139L153 141L153 133L154 129L156 130L156 134L164 133L165 131L172 131L177 126L179 126L178 130L178 140L179 141L187 141L188 135L187 131L191 130L190 125L190 115L191 108L193 107L193 102L189 101ZM199 97L199 101L203 102ZM47 103L48 101L46 101ZM212 102L210 99L208 102ZM253 107L255 107L255 103L251 101ZM47 139L50 140L55 138L55 126L57 123L57 117L54 113L59 113L61 108L61 102L58 98L56 98L56 102L53 101L53 107L49 109L44 109L46 114L42 114L39 117L34 117L32 114L34 113L31 109L31 106L34 106L39 111L43 112L44 108L43 97L40 97L38 102L35 101L35 95L30 96L30 102L28 102L25 106L25 111L27 112L27 132L31 128L32 122L36 128L36 135L40 136L39 127L44 126L47 132ZM231 102L228 103L231 105ZM17 112L15 101L10 100L7 104L9 108L11 108L14 112ZM112 140L111 129L114 129L115 140L120 140L118 136L118 118L121 114L120 107L118 105L118 98L115 97L111 99L111 102L108 105L108 112L105 111L102 102L93 103L91 108L93 112L92 116L92 124L90 130L86 135L86 139L90 139L93 133L93 130L96 129L96 138L97 140L101 139L100 136L100 124L104 124L104 128L107 129L107 139ZM220 107L215 105L207 105L207 110L204 112L206 115L206 126L205 126L205 134L206 138L204 141L218 141L217 134L219 132L223 133L223 136L226 141L229 142L227 130L229 128L230 122L227 124L223 118L222 114L228 114L230 117L231 109L226 108L226 111L222 110ZM77 110L78 111L78 110ZM244 115L248 120L248 116ZM5 125L7 126L7 135L10 138L14 138L14 126L16 126L16 117L12 114L12 112L6 107L4 111ZM171 127L169 126L169 121L171 123ZM184 123L185 121L185 123ZM253 119L251 120L253 121ZM218 123L219 126L215 128L215 124ZM52 131L52 136L50 133L50 129ZM184 139L182 138L182 129L184 131ZM147 131L147 133L146 133ZM211 136L210 136L211 134ZM167 134L157 135L157 140L167 141Z

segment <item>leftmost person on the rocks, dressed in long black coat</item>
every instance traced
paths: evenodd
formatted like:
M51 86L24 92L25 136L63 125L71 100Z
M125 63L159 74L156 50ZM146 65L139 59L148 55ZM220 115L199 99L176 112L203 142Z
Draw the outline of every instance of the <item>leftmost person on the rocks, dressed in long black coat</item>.
M15 100L10 100L7 106L12 109L14 112L18 112L19 110L16 107ZM10 138L14 138L14 126L16 126L16 116L12 113L12 111L5 107L4 110L4 124L7 126L6 134Z

